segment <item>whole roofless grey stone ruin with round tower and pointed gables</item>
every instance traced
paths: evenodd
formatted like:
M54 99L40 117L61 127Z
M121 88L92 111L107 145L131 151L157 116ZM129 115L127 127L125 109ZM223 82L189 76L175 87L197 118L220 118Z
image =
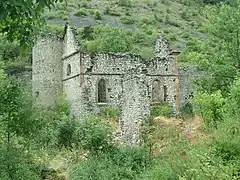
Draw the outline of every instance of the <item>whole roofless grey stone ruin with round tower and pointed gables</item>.
M139 143L140 125L148 119L153 104L167 103L179 114L189 93L188 82L179 82L179 53L170 51L161 36L149 61L132 53L78 49L69 25L62 38L38 38L32 52L32 90L38 103L51 106L64 93L71 113L78 117L98 113L106 106L118 107L121 137L130 145Z

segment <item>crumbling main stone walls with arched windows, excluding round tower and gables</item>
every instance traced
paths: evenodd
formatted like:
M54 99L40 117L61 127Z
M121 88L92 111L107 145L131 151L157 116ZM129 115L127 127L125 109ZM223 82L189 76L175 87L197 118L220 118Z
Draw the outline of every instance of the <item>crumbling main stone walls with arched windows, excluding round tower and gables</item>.
M63 60L63 91L76 116L99 113L106 106L119 107L122 137L129 144L136 144L139 143L140 125L150 114L155 80L160 82L161 88L167 87L165 103L177 113L177 74L171 63L173 59L160 58L145 62L131 53L76 52ZM69 64L71 74L67 75ZM106 102L98 102L100 80L106 83Z

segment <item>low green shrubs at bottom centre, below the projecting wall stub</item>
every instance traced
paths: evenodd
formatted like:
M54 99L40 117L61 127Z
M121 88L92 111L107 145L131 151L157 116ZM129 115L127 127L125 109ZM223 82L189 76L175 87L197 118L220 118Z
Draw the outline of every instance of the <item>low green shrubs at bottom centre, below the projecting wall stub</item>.
M110 154L90 157L71 173L72 180L135 179L148 166L143 148L120 148Z

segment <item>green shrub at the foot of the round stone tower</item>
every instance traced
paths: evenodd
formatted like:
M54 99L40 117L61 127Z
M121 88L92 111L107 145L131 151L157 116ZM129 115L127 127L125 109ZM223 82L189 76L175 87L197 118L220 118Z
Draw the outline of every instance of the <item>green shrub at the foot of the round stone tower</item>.
M39 134L34 138L37 147L56 148L57 145L62 147L71 147L73 138L71 131L74 129L75 121L70 118L69 104L62 95L57 100L54 107L47 110L38 109L36 119L40 121Z

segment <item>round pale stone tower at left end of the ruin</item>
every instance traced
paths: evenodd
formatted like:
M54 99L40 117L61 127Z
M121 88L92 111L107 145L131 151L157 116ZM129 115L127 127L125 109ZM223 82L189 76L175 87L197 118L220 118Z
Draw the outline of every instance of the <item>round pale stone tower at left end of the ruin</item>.
M37 103L53 105L62 93L63 43L58 37L40 36L32 50L32 92Z

